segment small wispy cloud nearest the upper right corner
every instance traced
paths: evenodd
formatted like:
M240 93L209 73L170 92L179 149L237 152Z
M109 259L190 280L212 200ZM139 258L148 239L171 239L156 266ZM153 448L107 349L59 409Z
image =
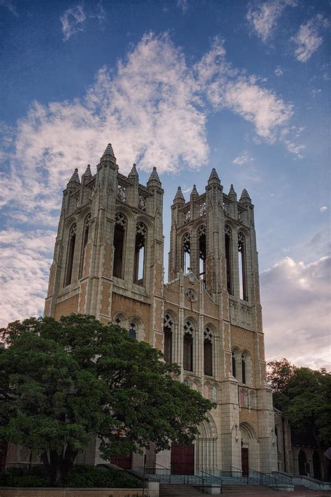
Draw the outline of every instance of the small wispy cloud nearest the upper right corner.
M321 14L316 15L300 26L297 34L292 38L296 47L294 55L298 61L307 62L310 59L311 55L323 43L323 37L320 34L321 29L328 26L328 20Z

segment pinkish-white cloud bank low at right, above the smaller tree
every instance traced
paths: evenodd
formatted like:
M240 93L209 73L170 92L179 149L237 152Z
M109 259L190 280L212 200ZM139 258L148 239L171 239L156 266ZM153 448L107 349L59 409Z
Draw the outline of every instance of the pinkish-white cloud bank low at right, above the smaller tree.
M330 368L330 270L330 257L311 264L284 257L262 273L269 357L286 356L297 366Z

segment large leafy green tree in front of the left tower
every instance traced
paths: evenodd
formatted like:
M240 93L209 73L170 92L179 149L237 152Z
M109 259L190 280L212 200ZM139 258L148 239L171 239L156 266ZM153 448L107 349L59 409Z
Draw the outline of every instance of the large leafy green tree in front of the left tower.
M52 484L95 437L105 459L151 442L158 452L191 443L213 407L172 379L179 367L159 350L93 316L31 317L2 332L0 438L41 454Z

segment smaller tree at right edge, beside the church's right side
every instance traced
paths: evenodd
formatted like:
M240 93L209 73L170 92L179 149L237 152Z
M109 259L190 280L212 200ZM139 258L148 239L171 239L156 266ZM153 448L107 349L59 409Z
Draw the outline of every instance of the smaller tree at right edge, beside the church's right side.
M296 368L287 359L270 361L268 366L274 406L288 416L295 431L313 435L328 479L329 463L323 452L331 447L331 374L325 369Z

